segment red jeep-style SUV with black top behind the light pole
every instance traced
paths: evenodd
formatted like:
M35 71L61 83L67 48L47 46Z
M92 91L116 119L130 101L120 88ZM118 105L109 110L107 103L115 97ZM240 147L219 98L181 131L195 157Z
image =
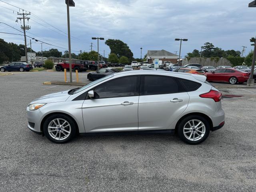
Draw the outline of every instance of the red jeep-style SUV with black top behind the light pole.
M87 68L84 66L84 62L82 60L72 60L72 70L78 72L86 71ZM64 61L63 63L58 63L55 67L56 71L63 71L64 69L69 69L69 60Z

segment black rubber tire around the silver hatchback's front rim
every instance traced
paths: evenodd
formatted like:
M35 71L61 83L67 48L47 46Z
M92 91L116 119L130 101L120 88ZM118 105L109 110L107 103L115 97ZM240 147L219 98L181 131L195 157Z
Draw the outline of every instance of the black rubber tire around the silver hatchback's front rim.
M49 132L48 132L48 125L50 124L50 122L56 118L61 118L63 120L66 120L69 124L70 124L70 134L68 135L67 138L63 139L63 140L58 140L58 139L54 139L52 138L52 136L50 136ZM74 136L76 136L76 124L74 122L74 120L72 118L70 118L67 115L64 114L54 114L49 116L48 118L46 118L46 120L44 121L43 124L43 131L44 131L44 135L48 138L48 140L54 142L54 143L66 143L69 142L70 140L72 140L74 138ZM53 134L55 134L55 132L53 132ZM56 131L57 136L61 135L64 136L64 134L62 134L61 132ZM57 137L56 137L57 138Z

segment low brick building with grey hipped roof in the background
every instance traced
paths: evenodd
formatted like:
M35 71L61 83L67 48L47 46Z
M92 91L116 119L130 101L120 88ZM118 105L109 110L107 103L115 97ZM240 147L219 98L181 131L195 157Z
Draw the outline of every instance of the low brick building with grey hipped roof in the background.
M160 51L148 50L148 54L147 54L147 60L149 63L153 63L154 59L162 60L162 62L170 61L172 63L177 63L178 58L179 58L178 55L163 49Z

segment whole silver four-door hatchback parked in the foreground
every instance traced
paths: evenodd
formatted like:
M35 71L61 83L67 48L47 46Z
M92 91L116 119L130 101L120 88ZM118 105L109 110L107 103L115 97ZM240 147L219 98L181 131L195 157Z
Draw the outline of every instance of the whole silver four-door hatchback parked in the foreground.
M224 125L220 98L202 75L120 72L32 101L28 128L56 143L68 142L76 133L166 131L199 144Z

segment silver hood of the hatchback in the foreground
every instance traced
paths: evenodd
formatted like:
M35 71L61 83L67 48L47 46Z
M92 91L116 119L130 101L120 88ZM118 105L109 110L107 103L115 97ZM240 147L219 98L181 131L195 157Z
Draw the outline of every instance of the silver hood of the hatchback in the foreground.
M35 100L33 100L31 103L53 103L53 102L64 102L66 101L70 95L68 94L68 91L62 91L58 93L52 93L48 95L44 95L42 97L39 97Z

